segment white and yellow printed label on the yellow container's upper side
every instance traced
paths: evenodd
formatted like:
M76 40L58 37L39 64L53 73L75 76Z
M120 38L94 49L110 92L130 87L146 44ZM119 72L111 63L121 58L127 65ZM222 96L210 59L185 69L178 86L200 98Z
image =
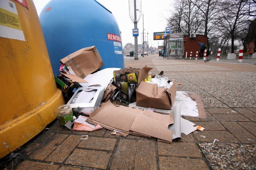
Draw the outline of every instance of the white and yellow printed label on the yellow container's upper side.
M25 41L15 3L0 1L0 37Z

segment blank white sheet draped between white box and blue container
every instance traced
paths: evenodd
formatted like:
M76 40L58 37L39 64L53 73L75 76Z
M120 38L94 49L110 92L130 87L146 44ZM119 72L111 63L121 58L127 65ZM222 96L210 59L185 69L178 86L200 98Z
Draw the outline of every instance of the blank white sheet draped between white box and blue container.
M97 71L94 74L89 74L84 78L88 83L79 83L83 87L88 87L90 85L101 85L105 87L105 90L108 86L108 83L111 81L113 76L113 71L120 70L120 68L107 68L100 71Z

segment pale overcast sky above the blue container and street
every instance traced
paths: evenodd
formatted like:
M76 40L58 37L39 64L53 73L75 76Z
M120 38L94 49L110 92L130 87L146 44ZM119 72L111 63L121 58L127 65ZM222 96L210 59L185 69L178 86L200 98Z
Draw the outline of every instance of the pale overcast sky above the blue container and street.
M44 6L50 2L50 0L33 0L36 6L38 15L44 8ZM134 37L132 36L132 29L134 24L129 16L129 1L128 0L97 0L100 4L108 8L112 12L120 31L122 32L122 43L123 46L126 43L134 44ZM144 41L147 41L148 32L148 44L149 46L157 47L157 42L159 45L163 44L164 40L153 40L153 32L162 32L166 27L165 17L170 16L171 5L173 0L141 0L141 11L144 13L144 29L146 31L146 37ZM138 23L139 37L138 44L142 44L142 14Z

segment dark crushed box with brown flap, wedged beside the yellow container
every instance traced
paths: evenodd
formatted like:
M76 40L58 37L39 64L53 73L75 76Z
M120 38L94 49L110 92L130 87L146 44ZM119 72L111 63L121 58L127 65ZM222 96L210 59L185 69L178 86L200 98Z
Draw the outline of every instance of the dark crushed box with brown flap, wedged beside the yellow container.
M73 96L79 87L82 87L79 83L87 83L87 81L77 77L76 75L64 73L55 77L55 82L57 87L70 97Z

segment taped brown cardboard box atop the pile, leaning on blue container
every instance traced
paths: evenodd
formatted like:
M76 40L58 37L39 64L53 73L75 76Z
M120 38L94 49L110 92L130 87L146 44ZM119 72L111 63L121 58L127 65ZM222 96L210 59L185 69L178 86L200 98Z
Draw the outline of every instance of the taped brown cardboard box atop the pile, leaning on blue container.
M104 65L95 46L82 48L62 58L60 63L66 65L69 74L80 78L84 78Z

